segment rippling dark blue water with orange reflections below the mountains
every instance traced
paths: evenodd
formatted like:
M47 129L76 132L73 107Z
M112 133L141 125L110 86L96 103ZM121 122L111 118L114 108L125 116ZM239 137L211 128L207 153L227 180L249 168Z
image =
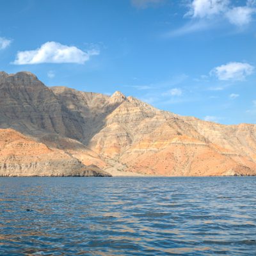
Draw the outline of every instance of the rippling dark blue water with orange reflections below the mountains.
M1 178L0 255L256 255L256 177Z

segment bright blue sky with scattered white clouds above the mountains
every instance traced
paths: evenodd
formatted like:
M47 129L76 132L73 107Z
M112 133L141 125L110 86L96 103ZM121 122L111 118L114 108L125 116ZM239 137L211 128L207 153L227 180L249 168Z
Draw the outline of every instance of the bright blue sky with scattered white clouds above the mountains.
M255 124L255 25L256 0L2 1L0 70Z

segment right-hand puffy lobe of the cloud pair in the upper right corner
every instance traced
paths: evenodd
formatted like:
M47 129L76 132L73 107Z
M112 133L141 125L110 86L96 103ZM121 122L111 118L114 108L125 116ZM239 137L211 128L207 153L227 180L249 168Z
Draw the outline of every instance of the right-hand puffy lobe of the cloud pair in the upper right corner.
M253 13L255 13L255 8L239 6L228 10L226 17L231 24L236 26L244 26L252 21Z

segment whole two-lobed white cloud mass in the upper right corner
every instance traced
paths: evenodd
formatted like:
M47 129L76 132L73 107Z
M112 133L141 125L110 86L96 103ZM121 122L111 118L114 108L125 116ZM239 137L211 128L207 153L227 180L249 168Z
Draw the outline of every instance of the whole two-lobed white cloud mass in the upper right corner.
M230 0L193 0L186 16L197 19L218 16L236 26L244 26L252 21L252 15L256 13L255 4L254 0L248 0L244 6L232 6Z

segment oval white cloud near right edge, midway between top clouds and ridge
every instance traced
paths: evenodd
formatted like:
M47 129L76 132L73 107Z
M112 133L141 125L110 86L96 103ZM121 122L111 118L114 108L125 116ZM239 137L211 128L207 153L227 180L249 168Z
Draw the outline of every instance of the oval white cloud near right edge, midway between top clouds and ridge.
M213 68L210 74L223 81L243 81L245 77L251 75L253 71L254 67L248 63L230 62Z

